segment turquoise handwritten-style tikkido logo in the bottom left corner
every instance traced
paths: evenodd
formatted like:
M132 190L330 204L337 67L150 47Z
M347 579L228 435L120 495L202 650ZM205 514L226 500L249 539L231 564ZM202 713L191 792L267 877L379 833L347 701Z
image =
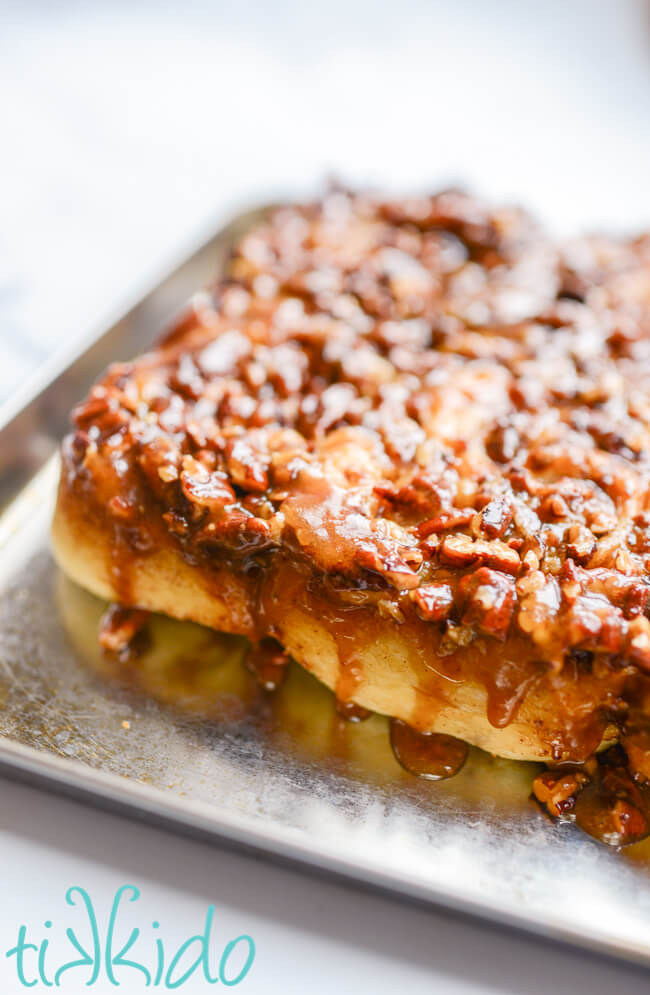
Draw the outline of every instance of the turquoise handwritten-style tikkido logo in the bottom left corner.
M120 923L120 918L125 918L120 912L124 903L137 902L139 898L135 885L118 888L102 933L88 892L76 886L68 888L65 900L75 910L70 914L75 919L80 917L74 928L57 929L51 919L46 919L44 935L39 937L28 932L27 926L19 926L16 943L5 953L20 985L37 991L42 990L41 985L69 986L68 990L77 993L82 985L92 988L106 982L133 991L136 985L181 988L193 980L192 990L196 991L197 981L232 988L246 978L255 960L253 938L242 934L220 947L212 939L214 905L208 906L202 932L188 937L178 949L169 950L157 920L143 929L131 926L129 930L128 925Z

